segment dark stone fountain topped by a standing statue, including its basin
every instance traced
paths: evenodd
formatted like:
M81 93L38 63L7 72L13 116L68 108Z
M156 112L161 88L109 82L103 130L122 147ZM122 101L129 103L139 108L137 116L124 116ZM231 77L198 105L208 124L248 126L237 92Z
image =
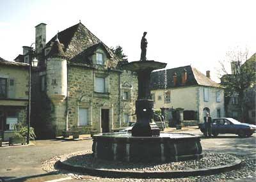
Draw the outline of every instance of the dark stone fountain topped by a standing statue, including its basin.
M140 61L123 64L124 70L138 75L138 99L136 100L136 124L131 133L102 133L93 135L95 159L126 162L170 162L202 157L198 135L160 133L152 122L154 102L150 98L150 75L153 70L166 67L166 63L147 60L147 39L141 39Z

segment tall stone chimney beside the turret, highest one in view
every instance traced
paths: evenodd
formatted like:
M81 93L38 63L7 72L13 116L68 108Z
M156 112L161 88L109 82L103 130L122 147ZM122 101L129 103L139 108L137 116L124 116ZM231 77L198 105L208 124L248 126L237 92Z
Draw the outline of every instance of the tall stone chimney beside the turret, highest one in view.
M36 54L42 52L46 44L46 24L41 23L35 26L36 28Z

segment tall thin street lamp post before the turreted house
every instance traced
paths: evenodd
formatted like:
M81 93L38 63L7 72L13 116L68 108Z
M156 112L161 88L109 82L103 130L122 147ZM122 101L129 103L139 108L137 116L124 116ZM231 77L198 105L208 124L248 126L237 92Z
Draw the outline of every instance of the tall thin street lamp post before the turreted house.
M27 133L27 144L29 144L29 133L30 133L30 121L31 121L31 66L32 66L32 59L34 56L34 50L32 48L32 45L35 43L32 43L30 45L30 50L28 52L29 55L29 76L28 76L28 133Z

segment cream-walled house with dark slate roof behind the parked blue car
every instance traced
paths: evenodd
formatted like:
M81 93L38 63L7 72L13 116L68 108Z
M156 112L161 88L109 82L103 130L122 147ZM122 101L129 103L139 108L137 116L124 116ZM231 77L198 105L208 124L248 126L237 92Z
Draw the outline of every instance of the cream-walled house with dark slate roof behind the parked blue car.
M181 66L153 72L151 86L155 109L184 109L184 122L202 123L205 112L213 118L225 116L223 87L211 80L209 71L205 76L192 66Z

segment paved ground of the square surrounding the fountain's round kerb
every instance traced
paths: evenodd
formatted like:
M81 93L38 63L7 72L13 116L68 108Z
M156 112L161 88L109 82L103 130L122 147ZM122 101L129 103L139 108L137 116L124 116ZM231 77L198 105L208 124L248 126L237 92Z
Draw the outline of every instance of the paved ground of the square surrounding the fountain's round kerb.
M200 130L195 128L190 130L181 130L179 133L194 133L202 135ZM86 181L255 181L255 136L256 134L253 134L252 137L244 139L237 137L237 135L220 135L219 137L212 139L202 138L201 144L204 151L234 154L244 160L242 169L232 171L228 174L230 178L226 178L226 174L223 173L218 174L217 176L206 176L202 179L200 179L200 177L180 179L111 179L84 175L83 177L80 176L77 178L77 174L71 174L67 171L65 175L47 174L47 171L43 171L42 163L51 159L53 156L56 156L57 158L63 154L92 149L92 140L40 140L36 141L35 146L0 148L0 176L3 179L10 179L34 175L33 178L25 178L22 179L22 181L47 181L49 180L49 176L52 176L50 179L63 178L65 181L81 181L82 179L86 179ZM36 175L39 174L45 176L36 177ZM68 179L67 176L71 176L73 179ZM20 181L21 179L18 180Z

